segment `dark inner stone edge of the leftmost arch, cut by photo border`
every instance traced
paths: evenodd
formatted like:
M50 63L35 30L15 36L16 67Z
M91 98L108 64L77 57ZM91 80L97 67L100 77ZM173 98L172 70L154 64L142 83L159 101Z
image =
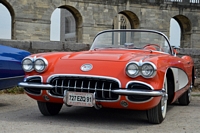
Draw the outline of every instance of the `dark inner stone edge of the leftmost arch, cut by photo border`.
M9 11L11 16L11 39L15 39L15 13L13 7L7 1L0 1Z

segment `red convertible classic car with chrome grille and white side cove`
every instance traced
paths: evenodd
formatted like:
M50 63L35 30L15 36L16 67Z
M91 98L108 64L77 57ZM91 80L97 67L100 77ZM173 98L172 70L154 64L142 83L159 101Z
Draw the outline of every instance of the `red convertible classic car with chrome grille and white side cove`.
M26 93L43 115L66 106L146 110L161 123L167 104L190 103L194 62L178 57L167 37L154 30L106 30L89 51L40 53L22 61Z

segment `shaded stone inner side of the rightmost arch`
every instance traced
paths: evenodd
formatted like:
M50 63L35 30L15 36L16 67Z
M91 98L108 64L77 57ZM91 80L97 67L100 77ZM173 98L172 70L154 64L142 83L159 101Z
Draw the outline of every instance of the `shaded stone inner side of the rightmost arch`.
M181 28L181 42L180 42L180 47L182 48L191 48L191 21L183 15L177 15L173 17L178 24L180 25Z

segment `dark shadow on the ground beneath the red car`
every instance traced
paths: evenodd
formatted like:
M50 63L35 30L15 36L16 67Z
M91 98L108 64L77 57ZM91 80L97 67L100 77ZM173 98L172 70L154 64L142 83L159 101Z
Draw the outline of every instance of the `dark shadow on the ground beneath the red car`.
M70 108L70 110L69 110ZM103 124L103 125L130 125L141 124L151 125L146 116L146 111L125 110L125 109L111 109L102 108L96 110L94 108L85 107L63 107L61 112L53 116L59 121L70 121L89 124Z

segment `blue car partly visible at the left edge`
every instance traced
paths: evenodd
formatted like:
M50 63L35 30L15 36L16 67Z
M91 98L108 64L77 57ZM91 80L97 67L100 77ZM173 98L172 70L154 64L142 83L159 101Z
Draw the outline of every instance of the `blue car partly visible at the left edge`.
M21 61L29 52L0 45L0 90L17 86L24 79Z

